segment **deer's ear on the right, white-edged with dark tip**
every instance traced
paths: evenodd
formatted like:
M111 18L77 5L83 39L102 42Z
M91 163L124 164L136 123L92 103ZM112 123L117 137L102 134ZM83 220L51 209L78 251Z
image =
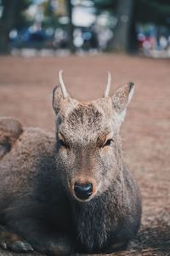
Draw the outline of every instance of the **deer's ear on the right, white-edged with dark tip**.
M134 85L133 83L124 84L119 87L115 94L112 96L112 104L118 119L122 122L125 118L127 105L133 96Z

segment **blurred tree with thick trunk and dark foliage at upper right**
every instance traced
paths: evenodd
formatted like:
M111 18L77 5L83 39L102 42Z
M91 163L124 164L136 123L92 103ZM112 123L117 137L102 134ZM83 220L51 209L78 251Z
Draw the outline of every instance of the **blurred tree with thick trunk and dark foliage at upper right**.
M97 9L108 9L117 17L111 48L137 50L137 23L170 26L170 0L94 0Z

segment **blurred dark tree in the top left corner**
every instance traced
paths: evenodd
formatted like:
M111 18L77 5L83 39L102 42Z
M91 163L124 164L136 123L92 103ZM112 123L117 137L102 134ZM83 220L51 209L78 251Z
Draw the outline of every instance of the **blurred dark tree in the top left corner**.
M24 10L28 8L31 0L1 0L0 7L3 10L0 17L0 53L9 51L9 32L14 28L26 25Z

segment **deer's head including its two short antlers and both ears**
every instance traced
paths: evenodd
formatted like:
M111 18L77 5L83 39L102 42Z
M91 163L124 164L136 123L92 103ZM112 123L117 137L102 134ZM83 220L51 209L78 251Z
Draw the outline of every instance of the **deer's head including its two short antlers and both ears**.
M133 84L125 84L109 97L77 102L60 87L54 90L56 113L56 165L62 183L77 201L89 201L102 194L122 169L119 128Z

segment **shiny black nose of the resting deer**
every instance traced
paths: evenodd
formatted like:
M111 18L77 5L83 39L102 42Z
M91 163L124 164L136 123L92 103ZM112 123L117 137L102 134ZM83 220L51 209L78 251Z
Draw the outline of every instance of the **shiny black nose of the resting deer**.
M93 193L92 183L75 183L74 186L75 195L81 200L86 200Z

